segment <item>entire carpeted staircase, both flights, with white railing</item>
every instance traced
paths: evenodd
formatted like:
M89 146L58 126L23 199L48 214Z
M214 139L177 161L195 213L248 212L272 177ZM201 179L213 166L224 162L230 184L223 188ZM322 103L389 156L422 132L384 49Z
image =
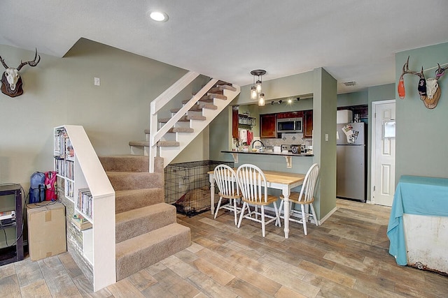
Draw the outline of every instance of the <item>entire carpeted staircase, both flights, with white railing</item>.
M190 228L176 223L176 207L165 203L164 167L239 94L239 87L211 79L170 110L171 118L159 119L158 112L198 75L187 73L151 102L146 140L129 142L130 155L99 157L116 192L117 281L191 244Z

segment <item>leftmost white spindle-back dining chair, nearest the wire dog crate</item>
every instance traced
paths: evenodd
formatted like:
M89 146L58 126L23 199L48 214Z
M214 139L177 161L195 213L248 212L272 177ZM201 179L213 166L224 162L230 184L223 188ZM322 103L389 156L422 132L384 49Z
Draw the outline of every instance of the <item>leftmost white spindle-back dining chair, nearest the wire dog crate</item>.
M219 190L219 201L215 210L215 219L218 216L219 209L226 209L234 213L235 225L237 225L237 214L241 212L241 208L237 207L237 200L241 200L237 174L228 165L217 165L214 170L214 177ZM223 199L228 199L229 201L223 204Z

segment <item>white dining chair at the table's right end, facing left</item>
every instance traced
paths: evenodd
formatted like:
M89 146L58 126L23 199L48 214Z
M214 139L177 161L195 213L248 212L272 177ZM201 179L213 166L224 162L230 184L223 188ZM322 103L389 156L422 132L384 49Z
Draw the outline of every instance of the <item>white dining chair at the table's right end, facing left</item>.
M316 212L314 211L314 189L316 188L316 182L317 177L319 173L319 167L317 163L314 163L309 167L309 170L307 174L305 175L305 178L303 180L302 188L300 189L300 193L291 192L289 196L289 203L290 203L290 216L289 221L294 221L296 223L302 223L303 225L303 232L305 235L307 235L307 221L309 220L309 213L305 212L305 205L309 205L311 209L312 216L314 218L314 223L318 225ZM280 218L285 219L284 214L281 215L281 211L283 210L283 204L284 204L284 198L283 195L280 196L281 202L280 202L280 208L279 208L279 216ZM300 211L293 209L293 203L294 204L300 204ZM295 218L293 218L295 216ZM298 218L297 216L300 216ZM296 219L298 218L298 219Z

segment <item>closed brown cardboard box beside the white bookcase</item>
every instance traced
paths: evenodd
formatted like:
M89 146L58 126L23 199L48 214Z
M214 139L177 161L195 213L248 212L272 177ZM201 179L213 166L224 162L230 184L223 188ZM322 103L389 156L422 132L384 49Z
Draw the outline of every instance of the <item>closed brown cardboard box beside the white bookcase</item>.
M53 202L42 204L27 206L29 257L33 261L67 250L65 206Z

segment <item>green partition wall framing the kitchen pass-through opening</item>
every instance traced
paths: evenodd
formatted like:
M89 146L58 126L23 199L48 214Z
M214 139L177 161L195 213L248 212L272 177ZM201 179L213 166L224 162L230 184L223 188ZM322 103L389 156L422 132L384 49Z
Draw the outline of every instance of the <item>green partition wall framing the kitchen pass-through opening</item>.
M265 88L268 86L268 88ZM306 173L312 163L318 163L321 167L321 185L316 193L316 214L318 218L327 216L330 211L336 207L336 80L331 77L323 68L316 68L312 72L301 75L283 77L281 79L269 80L263 82L263 91L266 92L267 103L269 100L279 100L279 98L288 98L298 94L314 94L314 99L304 99L295 101L293 105L278 103L274 105L267 104L264 107L258 107L259 114L269 114L272 112L285 112L293 110L314 110L314 157L293 157L293 167L288 169L283 156L257 156L252 154L239 154L239 163L253 163L265 170L276 170L281 172ZM269 94L269 91L272 91ZM251 110L256 113L255 107L244 107L244 105L253 105L249 98L250 85L241 87L241 94L231 105L240 105L241 110ZM255 117L251 114L251 117ZM259 121L259 119L258 119ZM233 161L231 154L221 153L222 150L230 150L231 144L225 137L230 139L232 135L232 112L231 107L221 112L210 126L210 156L211 159L218 161ZM329 140L325 140L325 134L328 134ZM278 195L279 193L273 194Z

